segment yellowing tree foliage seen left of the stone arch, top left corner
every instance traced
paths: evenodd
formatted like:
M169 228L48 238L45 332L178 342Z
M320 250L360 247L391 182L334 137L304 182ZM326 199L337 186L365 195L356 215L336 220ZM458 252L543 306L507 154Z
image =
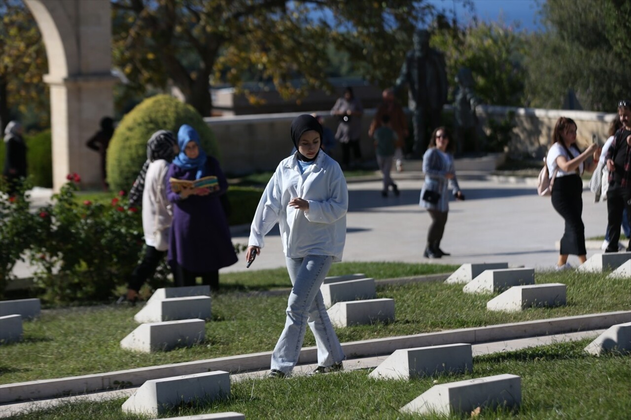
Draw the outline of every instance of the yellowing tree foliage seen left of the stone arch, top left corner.
M42 76L48 68L42 35L21 0L0 0L1 129L17 114L31 112L49 125L49 95Z

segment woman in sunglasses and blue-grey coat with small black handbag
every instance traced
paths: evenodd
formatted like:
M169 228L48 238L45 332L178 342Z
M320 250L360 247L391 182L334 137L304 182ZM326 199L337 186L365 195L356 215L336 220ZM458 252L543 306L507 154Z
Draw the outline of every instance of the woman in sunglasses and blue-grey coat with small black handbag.
M447 224L447 213L449 213L448 184L451 183L456 200L464 200L464 194L456 179L454 156L451 154L454 144L449 140L447 129L438 127L433 131L429 148L423 155L425 182L421 190L420 206L427 209L427 213L432 218L432 224L427 231L427 247L423 253L426 258L450 255L440 249L440 241L442 241Z

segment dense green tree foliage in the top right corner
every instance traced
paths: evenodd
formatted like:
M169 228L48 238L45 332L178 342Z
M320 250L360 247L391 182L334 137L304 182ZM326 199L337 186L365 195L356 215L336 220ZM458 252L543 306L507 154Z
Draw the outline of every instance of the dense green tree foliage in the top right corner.
M574 90L584 109L610 111L631 92L628 1L548 0L545 33L529 40L526 91L533 107L560 108Z

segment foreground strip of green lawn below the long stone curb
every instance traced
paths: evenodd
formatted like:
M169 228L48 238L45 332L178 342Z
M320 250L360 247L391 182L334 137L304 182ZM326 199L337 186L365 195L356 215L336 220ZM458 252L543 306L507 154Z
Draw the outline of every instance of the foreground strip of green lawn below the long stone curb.
M483 409L480 416L424 416L425 419L628 419L631 357L588 356L589 340L553 344L473 359L473 373L433 378L374 380L368 370L297 376L286 380L247 378L232 383L227 400L175 407L159 417L235 411L246 419L411 419L399 413L436 383L511 373L521 376L521 406ZM15 420L148 419L123 414L126 399L66 404Z

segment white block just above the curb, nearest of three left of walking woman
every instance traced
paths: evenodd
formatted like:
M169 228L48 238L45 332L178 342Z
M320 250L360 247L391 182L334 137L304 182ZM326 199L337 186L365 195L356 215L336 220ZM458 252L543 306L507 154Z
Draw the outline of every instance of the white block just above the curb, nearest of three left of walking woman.
M121 347L151 353L175 347L192 346L204 339L206 323L201 319L141 324L121 340Z

